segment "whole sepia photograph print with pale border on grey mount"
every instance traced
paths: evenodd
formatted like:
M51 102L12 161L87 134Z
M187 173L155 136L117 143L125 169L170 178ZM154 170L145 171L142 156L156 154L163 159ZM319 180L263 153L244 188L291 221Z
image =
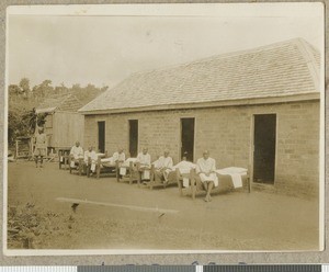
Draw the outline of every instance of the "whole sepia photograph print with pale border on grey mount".
M324 250L324 20L9 7L4 253Z

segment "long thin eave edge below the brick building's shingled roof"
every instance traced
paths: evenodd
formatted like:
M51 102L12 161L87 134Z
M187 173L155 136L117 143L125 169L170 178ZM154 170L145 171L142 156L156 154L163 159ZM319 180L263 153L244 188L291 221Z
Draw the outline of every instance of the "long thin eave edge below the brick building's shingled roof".
M234 99L212 102L195 102L195 103L180 103L180 104L166 104L166 105L150 105L139 107L122 107L122 109L107 109L107 110L92 110L78 112L83 115L97 114L115 114L115 113L132 113L132 112L150 112L150 111L169 111L169 110L191 110L191 109L206 109L206 107L222 107L222 106L242 106L242 105L259 105L259 104L273 104L273 103L288 103L298 101L319 100L320 92L308 92L300 94L287 94L266 98L248 98L248 99Z

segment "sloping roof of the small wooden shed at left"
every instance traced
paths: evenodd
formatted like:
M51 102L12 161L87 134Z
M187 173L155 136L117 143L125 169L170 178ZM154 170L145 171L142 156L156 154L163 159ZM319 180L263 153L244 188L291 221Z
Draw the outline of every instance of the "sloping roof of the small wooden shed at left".
M37 107L37 113L49 113L55 111L77 112L83 103L76 95L53 95L45 99Z

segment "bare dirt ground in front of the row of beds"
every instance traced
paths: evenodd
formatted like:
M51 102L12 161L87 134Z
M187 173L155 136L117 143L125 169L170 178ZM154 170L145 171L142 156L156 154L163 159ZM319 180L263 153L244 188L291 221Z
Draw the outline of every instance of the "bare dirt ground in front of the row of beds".
M79 203L76 213L73 202ZM177 186L149 190L115 178L70 174L55 162L43 169L31 161L10 162L9 211L26 203L32 207L16 218L33 209L39 214L34 228L47 224L33 248L318 249L317 200L234 191L205 203L202 196L180 196ZM9 239L8 247L22 248L22 242Z

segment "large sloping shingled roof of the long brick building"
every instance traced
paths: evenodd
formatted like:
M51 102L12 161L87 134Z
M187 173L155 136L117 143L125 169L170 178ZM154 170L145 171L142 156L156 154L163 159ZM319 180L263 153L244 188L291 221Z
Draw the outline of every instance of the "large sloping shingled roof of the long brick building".
M259 98L318 94L320 54L302 38L133 73L79 112L184 109Z

